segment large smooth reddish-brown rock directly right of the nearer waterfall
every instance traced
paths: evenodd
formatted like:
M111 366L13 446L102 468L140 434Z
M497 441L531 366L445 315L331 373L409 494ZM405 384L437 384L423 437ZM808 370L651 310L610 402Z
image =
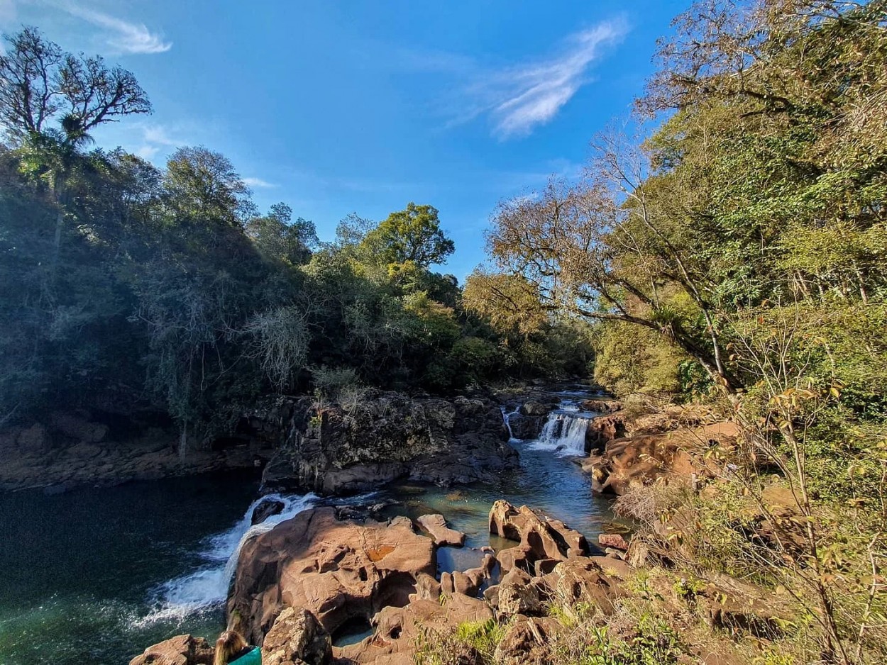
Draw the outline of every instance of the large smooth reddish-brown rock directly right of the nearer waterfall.
M406 605L417 576L436 568L434 544L408 523L341 522L330 507L300 512L243 544L229 615L239 613L261 645L287 607L310 611L332 634L349 619Z

